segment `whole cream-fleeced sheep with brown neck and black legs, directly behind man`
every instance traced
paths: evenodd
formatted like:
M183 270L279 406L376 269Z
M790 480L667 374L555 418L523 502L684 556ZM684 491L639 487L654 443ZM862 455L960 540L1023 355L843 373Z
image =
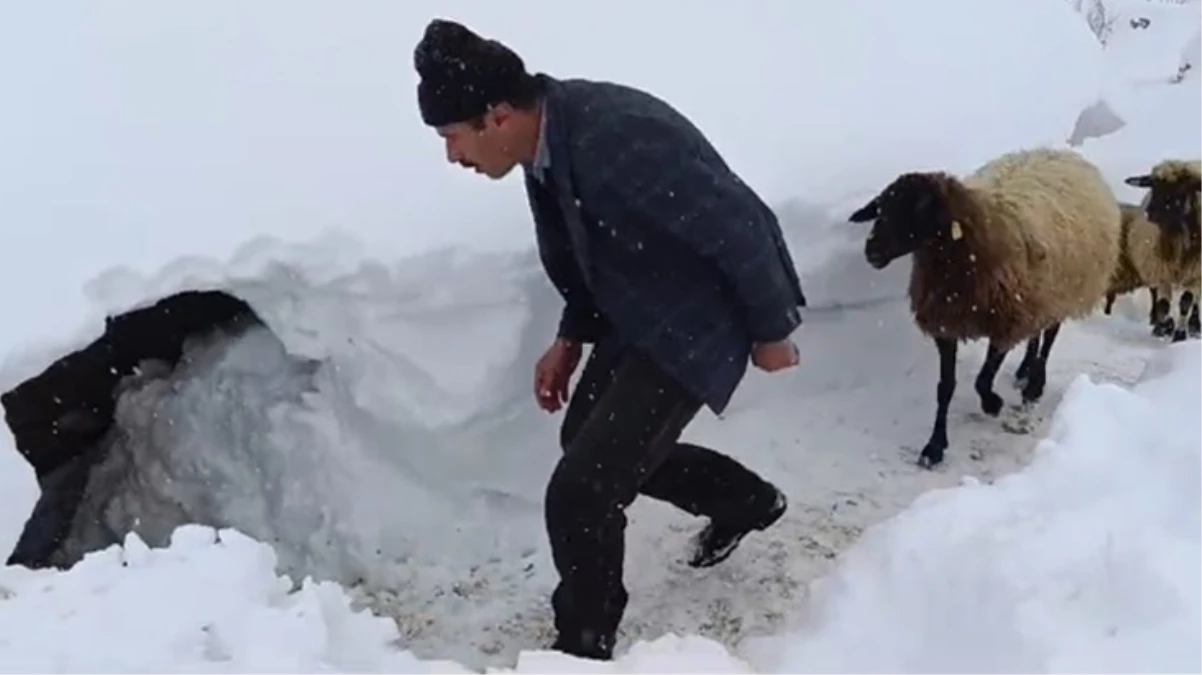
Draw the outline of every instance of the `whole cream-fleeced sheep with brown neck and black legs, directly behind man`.
M981 410L996 417L993 382L1006 354L1028 340L1024 405L1047 383L1060 323L1094 312L1119 259L1121 215L1101 172L1071 150L1001 155L965 179L904 173L849 216L875 221L864 257L875 269L914 253L910 309L939 351L935 423L918 464L947 449L958 342L988 339L976 377Z

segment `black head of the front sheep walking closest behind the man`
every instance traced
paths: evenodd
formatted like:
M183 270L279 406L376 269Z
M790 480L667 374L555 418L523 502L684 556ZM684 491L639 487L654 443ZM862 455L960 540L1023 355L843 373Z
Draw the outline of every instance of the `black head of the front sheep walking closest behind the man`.
M875 220L864 243L864 257L875 269L912 253L941 232L952 233L948 207L950 177L942 173L904 173L851 214L851 222ZM952 233L956 237L956 233Z

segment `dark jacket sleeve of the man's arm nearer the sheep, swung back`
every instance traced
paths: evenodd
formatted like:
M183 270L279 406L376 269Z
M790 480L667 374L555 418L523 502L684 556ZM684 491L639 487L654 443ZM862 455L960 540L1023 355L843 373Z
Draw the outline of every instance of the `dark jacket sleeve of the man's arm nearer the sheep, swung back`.
M698 155L686 130L637 113L599 125L578 149L591 166L590 208L655 227L714 262L743 305L755 342L784 340L804 305L748 187Z

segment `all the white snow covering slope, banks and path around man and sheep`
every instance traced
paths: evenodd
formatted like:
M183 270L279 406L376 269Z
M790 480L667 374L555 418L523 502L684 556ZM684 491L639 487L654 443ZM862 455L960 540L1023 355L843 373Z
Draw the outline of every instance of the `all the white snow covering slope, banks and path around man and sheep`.
M1132 0L1153 24L1119 20L1105 53L1067 2L1045 0L703 4L688 30L674 4L528 5L7 10L0 213L19 227L0 288L20 321L0 336L0 386L87 344L105 313L184 288L226 289L267 327L127 384L85 497L94 518L64 551L82 560L0 569L0 663L1197 665L1184 627L1202 609L1185 572L1200 562L1198 458L1178 420L1202 387L1198 346L1152 340L1146 294L1123 298L1115 316L1065 327L1030 435L983 418L962 387L946 466L920 470L935 353L914 329L906 268L870 270L863 228L845 222L899 171L1066 144L1099 101L1123 125L1075 142L1130 197L1126 172L1197 155L1186 113L1202 89L1168 84L1202 25L1196 4ZM432 16L512 43L532 68L648 86L692 115L778 205L811 303L796 374L750 372L722 419L688 431L778 483L789 514L694 571L679 558L700 524L636 502L613 664L538 651L559 418L528 384L560 304L517 180L445 165L417 121L409 50ZM982 351L965 350L960 382ZM37 488L5 443L11 548Z

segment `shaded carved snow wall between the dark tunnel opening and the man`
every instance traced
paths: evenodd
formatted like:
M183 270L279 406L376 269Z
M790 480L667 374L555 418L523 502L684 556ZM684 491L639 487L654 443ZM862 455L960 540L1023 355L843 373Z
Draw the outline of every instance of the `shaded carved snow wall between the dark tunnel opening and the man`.
M135 285L155 297L219 286L267 328L126 387L60 562L127 531L163 544L194 521L240 527L275 544L287 572L346 584L395 583L379 577L388 562L494 555L512 509L537 504L531 467L557 452L553 434L513 437L538 426L525 383L557 319L532 255L446 251L389 268L345 249L329 267L308 246L258 250L242 274L180 265ZM119 298L129 281L96 291Z

